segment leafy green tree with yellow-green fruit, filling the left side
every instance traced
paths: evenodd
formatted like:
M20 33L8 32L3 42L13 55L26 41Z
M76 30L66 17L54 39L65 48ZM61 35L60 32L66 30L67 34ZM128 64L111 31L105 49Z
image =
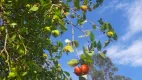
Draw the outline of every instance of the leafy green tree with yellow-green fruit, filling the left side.
M117 35L110 23L100 19L96 25L86 18L86 12L101 5L103 0L1 0L0 1L0 80L68 80L69 73L58 63L62 53L77 52L78 42L74 39L74 28L90 36L84 54L68 62L70 66L94 62L94 49L101 53L101 42L96 41L93 31L99 30L108 36L105 46ZM75 18L72 21L71 18ZM82 30L85 22L91 30ZM73 23L76 22L76 23ZM72 40L66 43L58 38L72 26ZM53 41L54 40L54 41ZM44 50L48 52L45 53ZM98 63L97 63L98 64ZM107 66L106 66L107 67ZM98 72L97 72L98 73ZM80 76L85 73L81 73ZM119 77L119 76L117 76ZM116 77L115 77L116 78Z

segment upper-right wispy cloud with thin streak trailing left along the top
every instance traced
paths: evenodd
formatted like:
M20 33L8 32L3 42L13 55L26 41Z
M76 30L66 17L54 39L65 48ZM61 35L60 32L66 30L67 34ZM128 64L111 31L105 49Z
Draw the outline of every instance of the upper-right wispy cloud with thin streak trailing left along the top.
M101 13L109 11L122 10L127 17L128 26L126 26L126 34L122 37L123 40L128 40L137 33L142 32L142 0L114 0L101 10Z

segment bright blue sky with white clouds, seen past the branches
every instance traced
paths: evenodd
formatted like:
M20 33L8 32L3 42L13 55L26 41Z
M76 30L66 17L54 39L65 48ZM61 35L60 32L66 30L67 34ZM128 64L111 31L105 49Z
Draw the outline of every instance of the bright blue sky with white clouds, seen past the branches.
M114 41L107 47L107 55L118 67L117 74L130 77L132 80L141 80L142 78L142 0L104 0L101 7L93 12L87 13L87 18L95 23L99 18L110 22L118 34L118 41ZM98 24L98 23L97 23ZM71 26L66 35L63 35L62 41L66 38L71 40ZM82 29L91 29L91 25L85 23ZM75 40L79 40L80 45L86 45L87 41L78 38L82 33L75 30ZM97 40L105 40L105 35L94 32ZM81 47L78 48L81 53ZM73 68L66 63L70 59L77 59L76 53L64 54L59 60L61 67L70 72L74 80L78 80L73 73Z

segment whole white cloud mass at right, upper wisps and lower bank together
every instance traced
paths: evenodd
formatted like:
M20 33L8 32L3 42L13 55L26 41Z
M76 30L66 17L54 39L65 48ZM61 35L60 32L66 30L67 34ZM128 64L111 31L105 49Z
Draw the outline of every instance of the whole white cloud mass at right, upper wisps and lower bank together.
M142 0L133 0L131 3L116 1L104 11L109 9L121 9L128 23L124 36L120 36L118 43L108 48L108 56L117 64L142 66L142 38L136 38L142 32Z

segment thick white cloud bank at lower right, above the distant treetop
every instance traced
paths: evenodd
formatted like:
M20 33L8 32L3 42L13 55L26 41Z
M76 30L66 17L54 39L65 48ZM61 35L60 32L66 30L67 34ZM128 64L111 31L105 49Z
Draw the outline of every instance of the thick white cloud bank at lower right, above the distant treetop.
M127 48L122 44L111 46L108 56L117 64L142 66L142 39L132 42Z

